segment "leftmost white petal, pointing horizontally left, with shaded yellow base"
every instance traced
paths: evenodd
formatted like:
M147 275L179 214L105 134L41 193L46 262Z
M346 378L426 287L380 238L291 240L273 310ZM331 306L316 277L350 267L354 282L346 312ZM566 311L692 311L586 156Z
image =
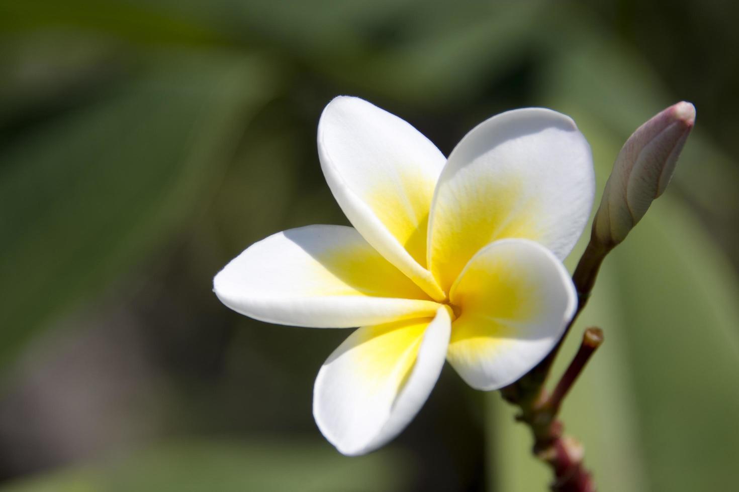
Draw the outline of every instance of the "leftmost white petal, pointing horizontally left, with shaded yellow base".
M347 226L307 226L254 243L213 281L239 313L282 325L348 328L434 316L439 305Z

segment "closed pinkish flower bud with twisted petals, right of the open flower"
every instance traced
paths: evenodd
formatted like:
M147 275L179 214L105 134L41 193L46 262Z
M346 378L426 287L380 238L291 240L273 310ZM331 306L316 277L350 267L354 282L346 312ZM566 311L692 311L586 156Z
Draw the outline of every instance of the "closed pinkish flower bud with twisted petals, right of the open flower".
M672 178L695 123L695 107L682 102L641 125L621 148L603 192L593 239L608 249L621 243Z

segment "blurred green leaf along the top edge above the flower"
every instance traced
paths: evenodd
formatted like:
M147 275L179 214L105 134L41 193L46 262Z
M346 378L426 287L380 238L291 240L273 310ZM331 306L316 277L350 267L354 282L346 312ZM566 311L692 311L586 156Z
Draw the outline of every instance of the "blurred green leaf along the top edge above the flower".
M479 95L524 58L546 2L185 3L211 16L217 10L242 39L327 77L339 92L438 109Z

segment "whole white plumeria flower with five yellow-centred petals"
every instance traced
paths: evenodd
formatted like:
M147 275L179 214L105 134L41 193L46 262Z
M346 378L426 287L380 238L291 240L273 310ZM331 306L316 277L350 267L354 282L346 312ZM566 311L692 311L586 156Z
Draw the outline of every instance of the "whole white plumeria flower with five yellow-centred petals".
M321 168L353 227L261 240L214 279L265 322L355 330L324 362L313 415L338 451L364 454L418 413L444 361L471 387L517 381L576 308L561 259L590 215L590 147L542 108L478 125L449 159L409 123L356 97L327 105Z

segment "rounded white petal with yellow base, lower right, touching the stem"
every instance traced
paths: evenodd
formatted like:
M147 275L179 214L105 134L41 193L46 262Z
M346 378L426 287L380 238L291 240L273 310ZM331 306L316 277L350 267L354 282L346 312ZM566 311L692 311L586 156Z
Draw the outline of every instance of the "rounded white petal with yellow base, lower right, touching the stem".
M447 360L475 389L517 381L554 348L577 306L565 267L548 249L504 239L480 250L452 287L460 316Z

